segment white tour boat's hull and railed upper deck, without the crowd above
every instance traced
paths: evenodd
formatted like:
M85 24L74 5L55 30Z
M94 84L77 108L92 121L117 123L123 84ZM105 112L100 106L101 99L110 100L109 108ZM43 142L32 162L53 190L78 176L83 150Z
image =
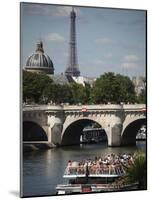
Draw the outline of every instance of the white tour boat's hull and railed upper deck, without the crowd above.
M116 180L125 173L121 165L92 168L88 165L79 167L78 162L67 166L63 178L65 184L58 184L57 194L80 194L92 192L124 191L137 189L138 184L118 184Z

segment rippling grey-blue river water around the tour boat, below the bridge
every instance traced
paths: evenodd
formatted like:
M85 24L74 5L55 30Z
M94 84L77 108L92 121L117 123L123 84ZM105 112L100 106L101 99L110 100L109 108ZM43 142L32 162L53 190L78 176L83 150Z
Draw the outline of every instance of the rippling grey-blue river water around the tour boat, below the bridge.
M133 153L139 149L146 151L146 142L139 141L133 147L91 144L26 152L23 156L23 195L55 195L56 185L64 183L62 176L68 160L81 161L111 153Z

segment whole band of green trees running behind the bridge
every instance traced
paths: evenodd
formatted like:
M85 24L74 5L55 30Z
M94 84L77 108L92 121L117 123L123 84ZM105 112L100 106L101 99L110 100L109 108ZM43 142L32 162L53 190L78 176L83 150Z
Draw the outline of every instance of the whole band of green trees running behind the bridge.
M137 99L138 102L145 102L145 97L142 93ZM136 96L132 81L112 72L100 76L91 88L90 85L84 87L77 83L55 84L46 74L23 71L23 100L40 104L134 103Z

